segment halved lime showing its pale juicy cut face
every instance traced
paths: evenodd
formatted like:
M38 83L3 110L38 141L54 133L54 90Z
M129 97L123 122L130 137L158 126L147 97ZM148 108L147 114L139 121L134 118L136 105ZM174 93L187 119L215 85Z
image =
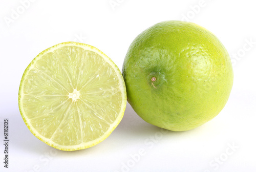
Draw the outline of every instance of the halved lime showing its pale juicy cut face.
M29 130L61 150L78 150L107 138L126 106L122 74L95 47L63 42L38 54L19 87L19 110Z

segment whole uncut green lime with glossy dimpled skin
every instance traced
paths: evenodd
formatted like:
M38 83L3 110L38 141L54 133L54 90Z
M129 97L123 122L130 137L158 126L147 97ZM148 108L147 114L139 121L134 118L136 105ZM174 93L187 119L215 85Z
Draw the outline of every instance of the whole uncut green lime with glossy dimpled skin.
M220 40L181 21L161 22L140 33L122 74L135 112L172 131L191 130L217 116L233 84L230 57Z

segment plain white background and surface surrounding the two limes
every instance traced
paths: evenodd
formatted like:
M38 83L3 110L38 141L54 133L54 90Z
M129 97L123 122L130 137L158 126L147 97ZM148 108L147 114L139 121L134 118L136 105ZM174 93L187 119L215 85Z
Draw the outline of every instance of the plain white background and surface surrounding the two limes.
M0 171L256 171L255 17L251 0L1 0L0 137L3 119L9 118L10 142L7 170L0 141ZM83 42L121 70L140 32L163 20L186 18L215 33L232 59L233 89L215 119L195 130L162 133L127 103L116 130L88 149L63 152L30 133L19 114L18 87L38 53L60 42Z

